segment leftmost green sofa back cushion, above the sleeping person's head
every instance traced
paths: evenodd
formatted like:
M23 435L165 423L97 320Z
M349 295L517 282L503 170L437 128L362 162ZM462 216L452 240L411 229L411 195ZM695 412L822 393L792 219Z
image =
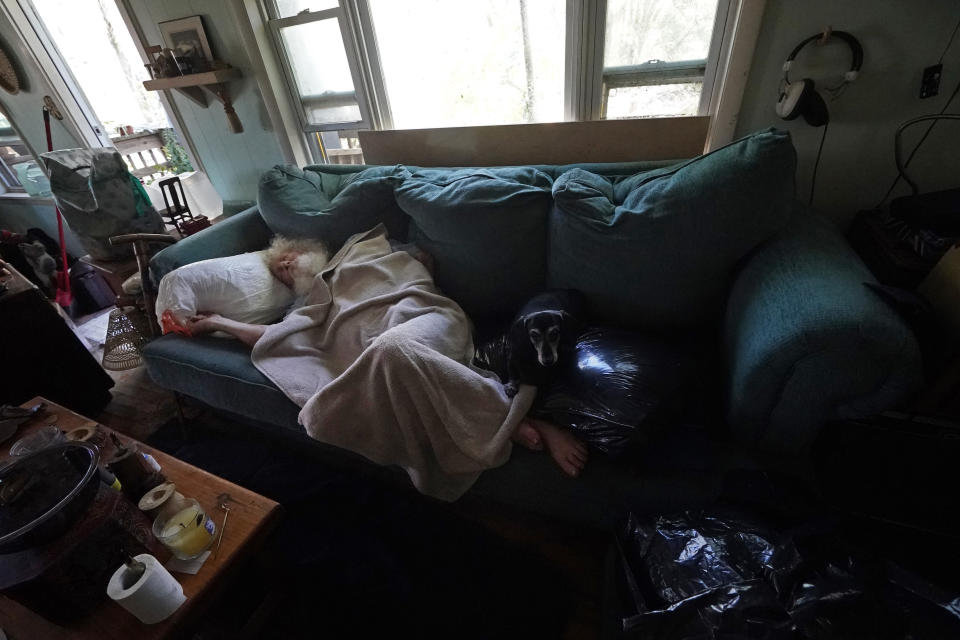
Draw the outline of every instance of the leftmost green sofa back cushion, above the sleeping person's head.
M383 222L391 238L406 239L407 217L393 196L406 171L371 167L334 173L277 165L260 178L260 213L274 233L318 238L336 251L347 238Z

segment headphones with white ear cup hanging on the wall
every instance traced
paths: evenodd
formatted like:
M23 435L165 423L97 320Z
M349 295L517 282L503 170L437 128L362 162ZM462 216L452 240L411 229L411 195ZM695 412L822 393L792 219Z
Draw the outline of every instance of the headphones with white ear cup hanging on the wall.
M843 74L843 82L836 87L828 87L827 91L836 98L849 83L857 79L857 74L863 65L863 47L860 46L860 42L856 38L846 31L833 31L829 27L823 33L810 36L794 47L783 63L783 79L780 81L780 96L777 98L777 115L784 120L793 120L798 116L803 116L807 124L814 127L822 127L830 122L827 103L824 102L823 96L817 92L813 80L802 78L796 82L790 82L789 72L801 49L815 41L825 44L833 36L847 43L850 52L853 54L853 61L850 64L850 70Z

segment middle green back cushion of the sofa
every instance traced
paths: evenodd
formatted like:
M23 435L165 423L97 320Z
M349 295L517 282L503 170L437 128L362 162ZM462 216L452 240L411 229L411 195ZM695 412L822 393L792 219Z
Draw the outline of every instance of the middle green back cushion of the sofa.
M546 285L551 184L531 167L420 169L396 197L440 288L474 318L492 319Z

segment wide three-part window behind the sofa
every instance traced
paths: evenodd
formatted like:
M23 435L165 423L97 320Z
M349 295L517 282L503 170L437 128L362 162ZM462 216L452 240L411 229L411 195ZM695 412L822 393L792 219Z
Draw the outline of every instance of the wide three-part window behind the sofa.
M302 130L324 152L364 128L709 114L738 25L752 51L762 12L746 0L261 1Z

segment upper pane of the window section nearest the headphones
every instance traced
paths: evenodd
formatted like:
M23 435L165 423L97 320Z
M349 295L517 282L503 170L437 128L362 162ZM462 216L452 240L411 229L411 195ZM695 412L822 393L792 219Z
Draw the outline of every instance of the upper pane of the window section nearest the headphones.
M604 67L703 60L717 0L607 0Z

